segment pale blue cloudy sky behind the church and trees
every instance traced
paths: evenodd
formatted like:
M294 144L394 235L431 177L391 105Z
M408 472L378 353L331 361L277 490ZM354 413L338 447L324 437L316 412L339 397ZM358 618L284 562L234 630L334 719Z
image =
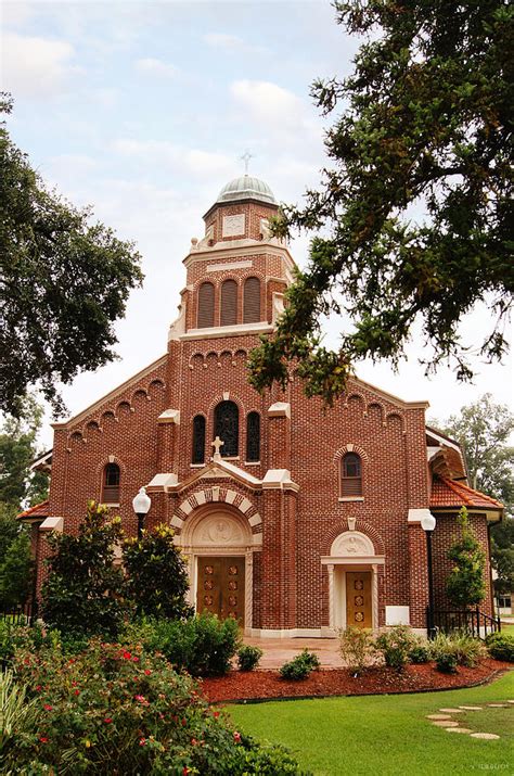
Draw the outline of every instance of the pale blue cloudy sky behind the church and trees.
M1 5L2 89L14 98L8 129L43 180L133 240L145 275L116 325L119 360L63 387L69 415L166 351L191 238L231 178L249 173L275 198L301 204L326 165L331 119L312 103L314 78L348 75L359 40L324 0L234 2L9 2ZM305 266L308 238L292 242ZM490 325L477 308L463 321L471 347ZM336 345L342 320L324 321ZM512 341L512 326L507 330ZM426 399L445 419L486 392L514 409L513 359L472 357L473 384L451 368L427 378L414 332L408 359L364 362L359 377L406 400ZM51 418L41 444L51 446Z

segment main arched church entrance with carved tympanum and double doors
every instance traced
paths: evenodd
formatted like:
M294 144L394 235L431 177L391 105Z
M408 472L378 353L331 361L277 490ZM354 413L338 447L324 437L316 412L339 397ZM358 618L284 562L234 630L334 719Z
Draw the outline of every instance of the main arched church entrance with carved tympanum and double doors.
M191 606L232 616L249 632L256 547L248 521L229 505L206 505L185 521L177 544L189 559Z

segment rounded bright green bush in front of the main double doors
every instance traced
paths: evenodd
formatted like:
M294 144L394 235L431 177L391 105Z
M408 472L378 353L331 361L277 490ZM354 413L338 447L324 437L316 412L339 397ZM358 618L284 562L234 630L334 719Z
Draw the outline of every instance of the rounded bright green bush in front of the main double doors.
M241 644L235 620L203 613L190 620L156 620L145 644L192 676L221 676Z

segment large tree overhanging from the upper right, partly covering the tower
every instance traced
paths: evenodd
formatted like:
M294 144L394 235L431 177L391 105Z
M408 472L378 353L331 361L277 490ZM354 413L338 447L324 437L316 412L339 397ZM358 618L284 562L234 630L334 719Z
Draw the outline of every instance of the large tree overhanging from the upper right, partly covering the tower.
M415 320L441 360L471 377L458 325L487 302L492 326L479 352L499 359L512 306L514 8L506 0L335 2L337 22L367 36L348 78L317 80L323 114L343 113L325 137L331 166L304 208L284 207L274 233L320 230L287 292L277 332L250 358L258 390L291 377L329 404L354 365L397 366ZM423 213L422 216L414 214ZM343 298L342 298L343 297ZM345 308L354 329L332 352L320 317Z

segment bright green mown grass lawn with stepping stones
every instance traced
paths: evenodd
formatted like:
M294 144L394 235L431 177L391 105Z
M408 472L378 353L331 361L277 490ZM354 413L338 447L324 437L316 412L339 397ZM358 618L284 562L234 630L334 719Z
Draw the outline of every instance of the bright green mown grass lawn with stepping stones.
M448 733L426 718L441 708L509 699L514 699L514 672L464 690L237 704L229 712L239 728L283 743L316 776L513 774L514 708L477 711L475 727L473 712L463 715L467 727L501 736L492 741Z

